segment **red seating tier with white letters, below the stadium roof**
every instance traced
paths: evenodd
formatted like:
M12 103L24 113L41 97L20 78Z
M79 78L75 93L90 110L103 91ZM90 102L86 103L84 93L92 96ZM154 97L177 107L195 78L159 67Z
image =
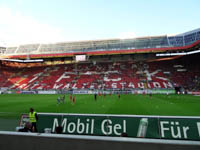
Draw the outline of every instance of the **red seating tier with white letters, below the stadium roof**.
M0 86L10 89L200 90L198 56L152 62L90 62L31 68L2 67ZM188 62L186 62L187 60ZM191 65L192 63L192 65Z

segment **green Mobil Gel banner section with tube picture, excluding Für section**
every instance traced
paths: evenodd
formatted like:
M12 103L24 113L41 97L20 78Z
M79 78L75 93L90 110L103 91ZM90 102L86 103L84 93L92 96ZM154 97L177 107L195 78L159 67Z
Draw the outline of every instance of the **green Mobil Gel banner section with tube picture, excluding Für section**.
M40 132L44 132L45 128L51 128L52 132L55 132L56 127L62 126L65 134L122 136L126 133L130 137L159 137L159 131L155 128L157 125L156 119L148 121L148 118L141 117L93 115L39 114L38 116L38 129Z

